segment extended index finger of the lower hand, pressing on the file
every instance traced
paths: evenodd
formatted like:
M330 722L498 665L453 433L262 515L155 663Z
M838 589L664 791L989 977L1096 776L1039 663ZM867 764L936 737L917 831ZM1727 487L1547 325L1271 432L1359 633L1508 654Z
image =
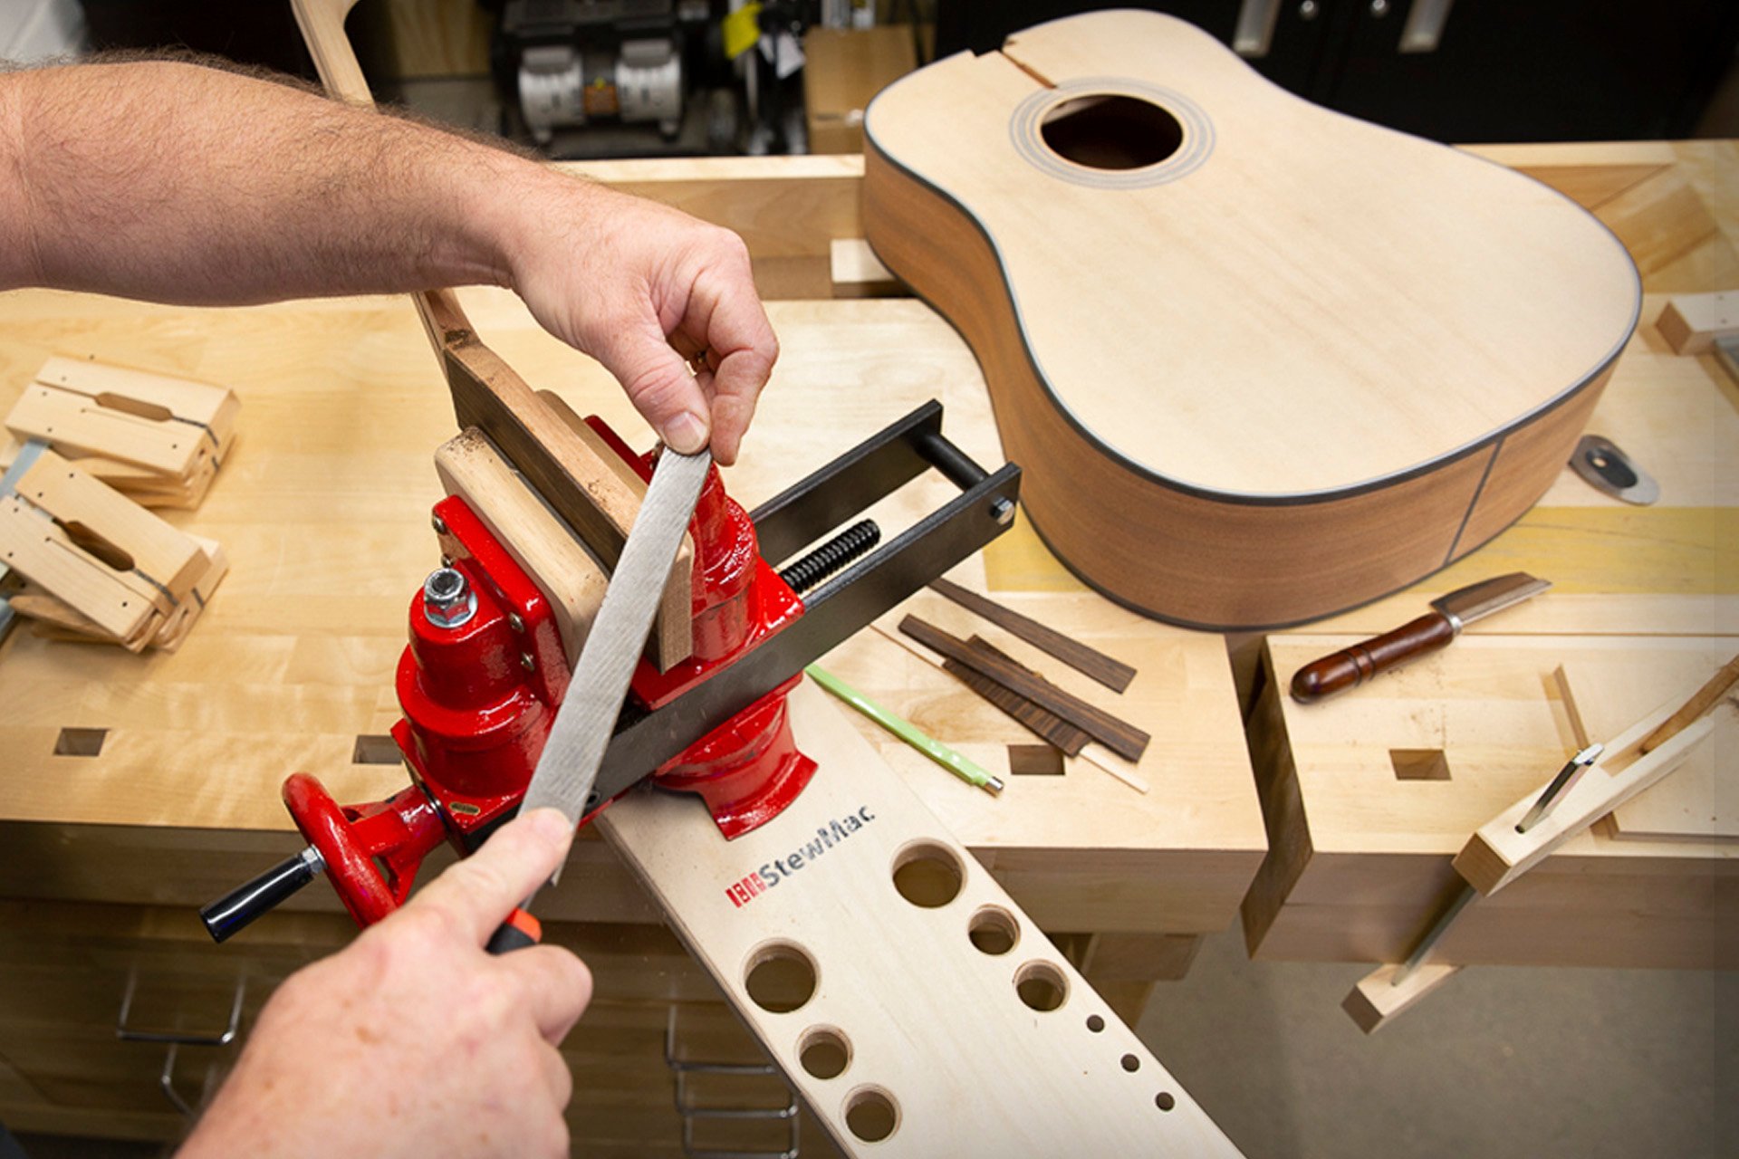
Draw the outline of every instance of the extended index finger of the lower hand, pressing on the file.
M515 905L550 879L572 843L574 825L567 817L558 810L532 810L428 883L405 909L440 912L482 945Z

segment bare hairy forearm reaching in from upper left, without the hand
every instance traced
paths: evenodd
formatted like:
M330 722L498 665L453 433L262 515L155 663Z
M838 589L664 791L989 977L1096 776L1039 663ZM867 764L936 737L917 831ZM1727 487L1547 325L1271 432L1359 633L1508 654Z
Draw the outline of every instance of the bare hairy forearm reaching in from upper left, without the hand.
M181 63L0 76L0 288L188 304L508 285L523 158ZM570 196L572 191L563 191Z

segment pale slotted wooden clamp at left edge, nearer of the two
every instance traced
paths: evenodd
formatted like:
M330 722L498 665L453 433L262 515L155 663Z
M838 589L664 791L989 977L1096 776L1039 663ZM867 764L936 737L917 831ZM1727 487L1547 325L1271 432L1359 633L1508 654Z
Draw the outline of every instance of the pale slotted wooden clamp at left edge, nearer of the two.
M12 610L130 652L181 643L226 563L42 448L0 497L0 561L30 580Z

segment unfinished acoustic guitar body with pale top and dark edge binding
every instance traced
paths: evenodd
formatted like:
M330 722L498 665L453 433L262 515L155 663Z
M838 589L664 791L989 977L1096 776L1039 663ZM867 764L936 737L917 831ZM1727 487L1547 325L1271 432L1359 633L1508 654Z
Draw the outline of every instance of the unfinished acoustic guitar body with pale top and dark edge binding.
M1501 532L1642 302L1574 202L1151 12L885 89L864 229L977 354L1056 554L1198 627L1329 615Z

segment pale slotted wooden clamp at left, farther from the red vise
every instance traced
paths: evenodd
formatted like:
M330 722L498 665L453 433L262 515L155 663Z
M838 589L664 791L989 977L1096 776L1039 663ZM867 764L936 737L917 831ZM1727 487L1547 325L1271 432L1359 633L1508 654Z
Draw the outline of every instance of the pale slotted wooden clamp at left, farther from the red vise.
M235 393L207 382L50 358L5 419L151 507L195 507L235 443Z

